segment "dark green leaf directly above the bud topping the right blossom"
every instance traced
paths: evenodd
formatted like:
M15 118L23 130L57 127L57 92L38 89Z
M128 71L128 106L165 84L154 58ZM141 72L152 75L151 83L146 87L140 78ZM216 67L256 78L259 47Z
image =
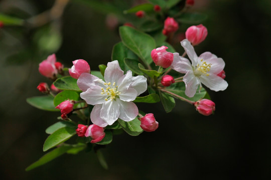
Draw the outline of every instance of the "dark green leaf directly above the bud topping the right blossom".
M185 12L176 18L177 21L187 24L198 24L207 19L207 15L199 12Z

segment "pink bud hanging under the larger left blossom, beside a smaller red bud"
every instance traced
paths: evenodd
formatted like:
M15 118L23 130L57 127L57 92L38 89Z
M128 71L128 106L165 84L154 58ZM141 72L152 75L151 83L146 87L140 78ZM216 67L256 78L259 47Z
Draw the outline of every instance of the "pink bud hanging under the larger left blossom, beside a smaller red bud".
M103 127L100 127L95 124L91 124L87 128L85 136L86 137L90 136L92 138L90 142L96 143L103 139L103 137L105 136L105 132L104 132Z

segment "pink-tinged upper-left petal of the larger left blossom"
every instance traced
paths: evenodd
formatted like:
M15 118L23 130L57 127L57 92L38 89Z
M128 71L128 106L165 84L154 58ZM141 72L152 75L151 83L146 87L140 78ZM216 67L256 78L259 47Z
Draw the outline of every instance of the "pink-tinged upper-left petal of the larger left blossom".
M86 91L89 87L95 85L93 80L98 78L95 75L83 72L77 80L77 85L82 91Z

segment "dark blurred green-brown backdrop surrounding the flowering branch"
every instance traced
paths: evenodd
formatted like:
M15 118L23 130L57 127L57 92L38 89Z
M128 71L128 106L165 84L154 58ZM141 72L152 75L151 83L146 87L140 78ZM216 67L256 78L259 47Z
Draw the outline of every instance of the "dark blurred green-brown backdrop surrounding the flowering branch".
M41 95L36 89L41 81L51 83L39 73L39 63L55 52L66 67L82 58L98 70L98 64L111 60L112 47L120 41L117 28L123 19L108 15L110 6L93 8L86 1L62 0L51 11L50 23L47 13L55 0L0 1L1 13L28 19L23 26L0 28L1 179L271 178L270 0L195 0L189 9L208 15L202 22L208 35L195 47L197 54L211 51L226 62L228 88L207 89L216 103L215 114L203 116L181 100L170 113L161 103L139 103L143 111L155 113L159 128L139 136L114 135L102 149L108 170L93 151L81 151L26 172L45 154L45 129L59 116L26 102ZM103 2L125 10L144 1ZM189 25L197 24L182 24L180 32ZM173 46L183 52L179 40Z

